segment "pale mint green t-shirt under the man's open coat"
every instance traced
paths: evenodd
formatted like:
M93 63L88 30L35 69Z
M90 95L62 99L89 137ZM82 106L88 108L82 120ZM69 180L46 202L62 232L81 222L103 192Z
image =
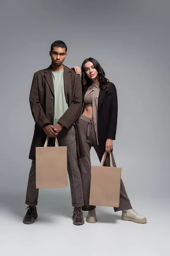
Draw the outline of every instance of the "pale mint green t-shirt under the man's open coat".
M64 69L58 72L52 71L52 77L54 82L54 125L57 124L60 117L68 109L64 93L63 73Z

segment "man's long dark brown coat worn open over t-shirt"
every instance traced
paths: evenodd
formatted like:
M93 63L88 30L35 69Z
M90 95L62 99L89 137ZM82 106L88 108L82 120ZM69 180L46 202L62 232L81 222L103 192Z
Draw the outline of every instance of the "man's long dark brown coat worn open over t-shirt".
M73 125L76 130L78 157L84 157L81 137L78 134L77 119L82 108L82 85L80 76L64 66L64 90L68 110L61 116L59 123L67 130ZM44 125L54 122L54 84L51 66L34 73L29 96L31 113L35 121L34 136L31 144L29 159L35 160L35 148L43 147L46 134L42 130Z

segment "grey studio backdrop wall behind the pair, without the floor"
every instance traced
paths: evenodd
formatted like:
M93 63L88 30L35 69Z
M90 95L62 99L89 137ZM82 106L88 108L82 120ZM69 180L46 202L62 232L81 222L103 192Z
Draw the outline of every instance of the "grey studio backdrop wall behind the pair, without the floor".
M34 131L28 96L55 40L68 45L65 65L92 56L116 85L114 156L129 197L169 197L169 10L168 0L0 2L1 197L18 191L24 204Z

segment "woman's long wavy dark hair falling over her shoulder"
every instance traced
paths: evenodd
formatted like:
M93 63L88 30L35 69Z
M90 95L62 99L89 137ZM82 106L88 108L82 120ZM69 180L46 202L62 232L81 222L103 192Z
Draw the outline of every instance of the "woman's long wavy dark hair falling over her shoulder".
M87 58L85 59L85 61L83 61L82 63L82 89L89 87L91 85L91 79L89 79L85 73L85 64L91 61L94 64L94 68L97 70L98 75L97 75L97 79L99 81L99 85L100 88L102 90L104 90L105 92L108 91L109 89L109 80L107 78L105 78L105 72L102 69L102 67L100 66L99 62L94 59L94 58Z

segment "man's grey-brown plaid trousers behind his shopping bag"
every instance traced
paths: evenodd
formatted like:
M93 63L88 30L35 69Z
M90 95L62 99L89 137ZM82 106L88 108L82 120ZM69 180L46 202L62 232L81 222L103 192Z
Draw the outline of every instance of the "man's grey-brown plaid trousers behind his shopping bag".
M74 126L69 131L62 129L57 137L59 146L67 146L67 166L68 176L71 186L71 198L73 207L82 207L83 191L82 191L82 180L79 171L79 164L77 159L77 148L76 148L76 133ZM48 146L54 146L55 139L49 138ZM28 186L26 192L26 204L29 206L36 206L38 203L38 192L36 189L36 164L35 160L32 160L31 169L28 178Z

